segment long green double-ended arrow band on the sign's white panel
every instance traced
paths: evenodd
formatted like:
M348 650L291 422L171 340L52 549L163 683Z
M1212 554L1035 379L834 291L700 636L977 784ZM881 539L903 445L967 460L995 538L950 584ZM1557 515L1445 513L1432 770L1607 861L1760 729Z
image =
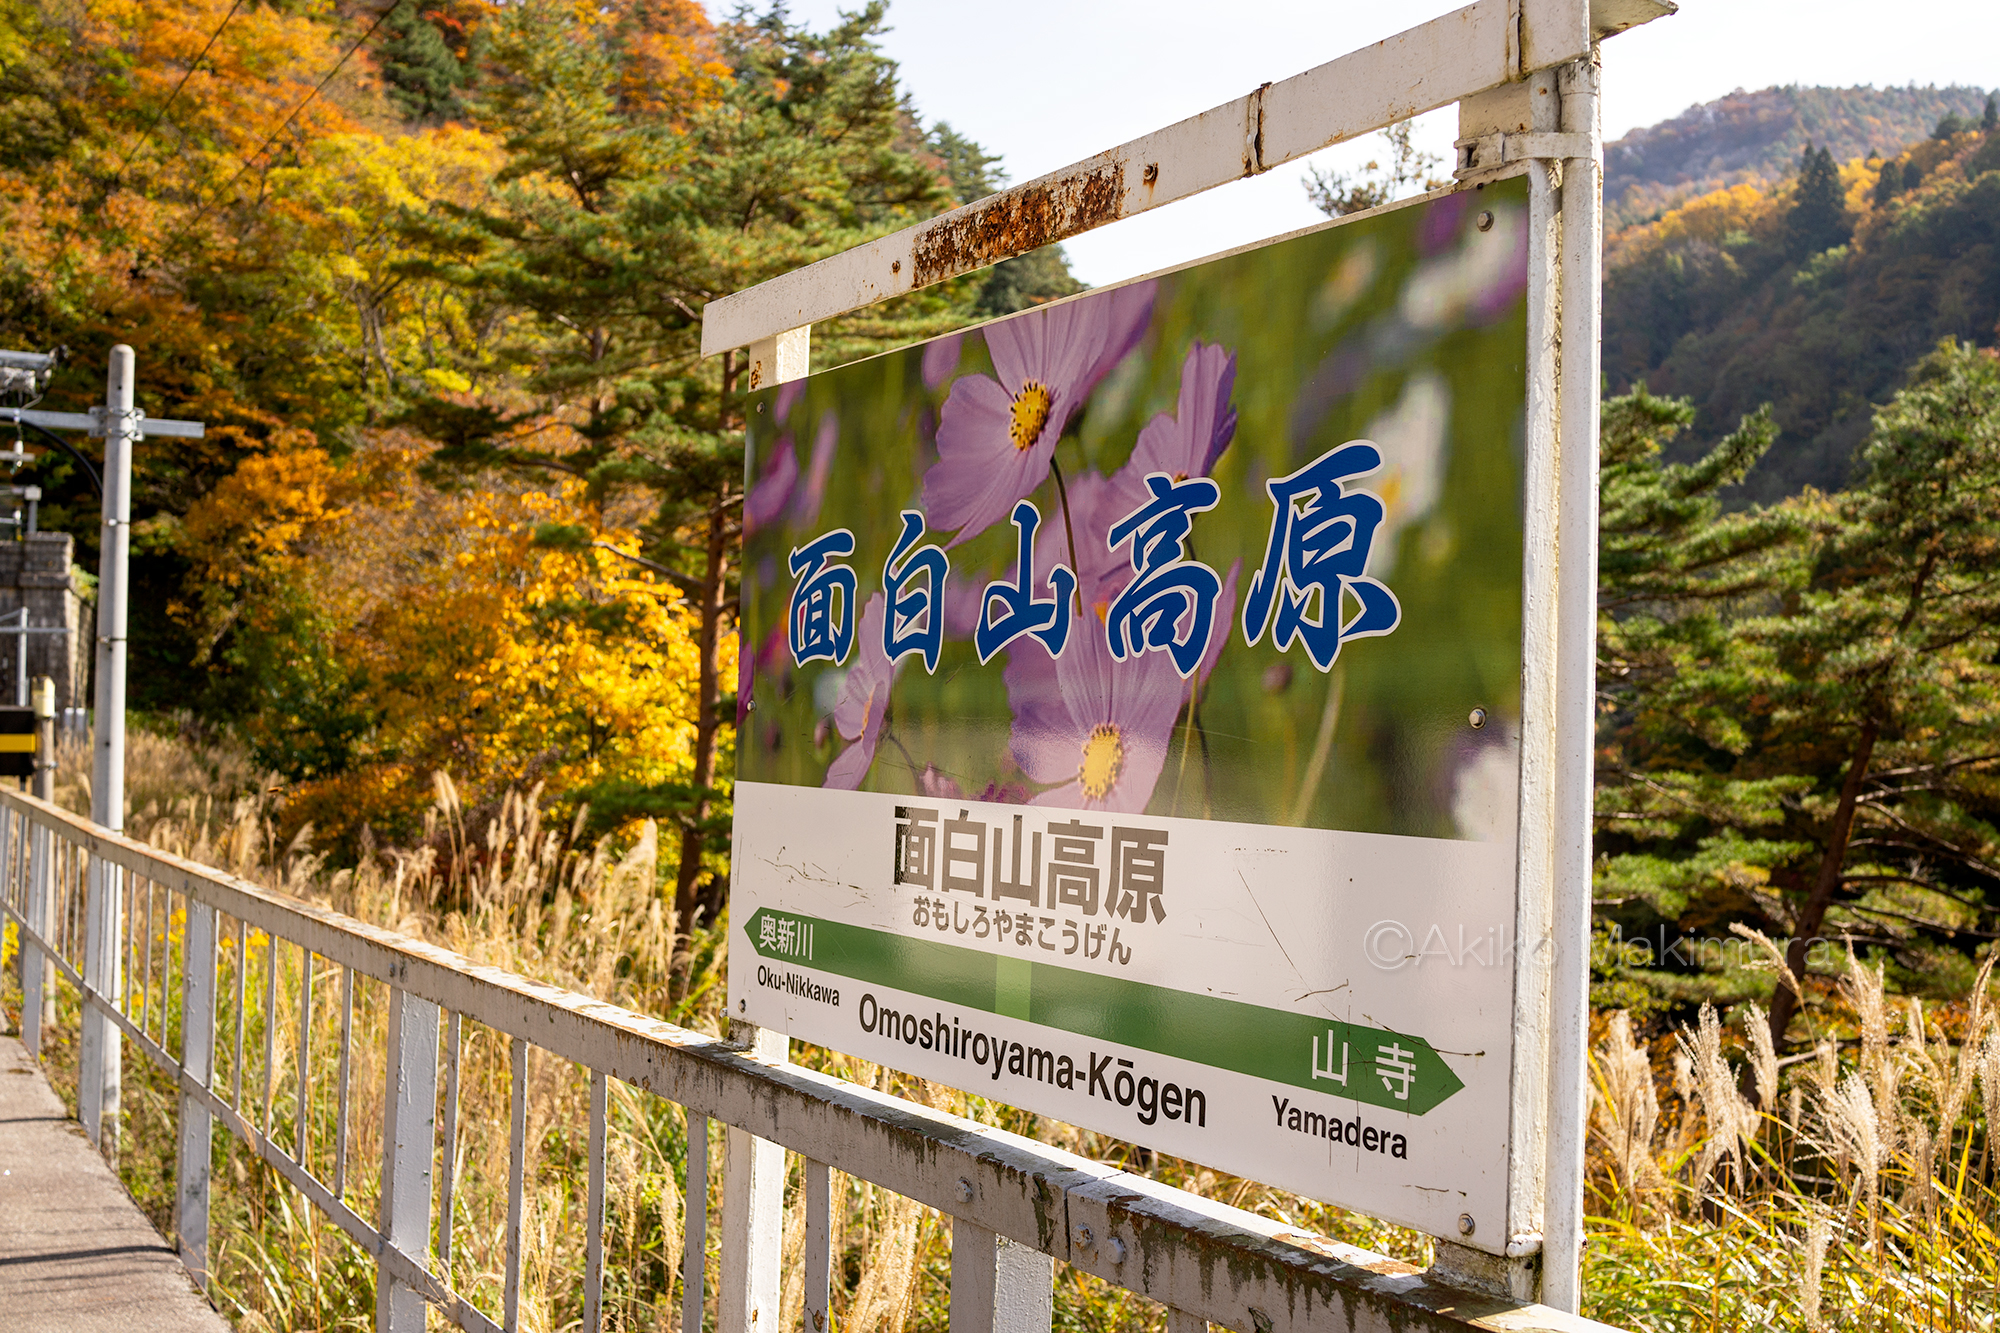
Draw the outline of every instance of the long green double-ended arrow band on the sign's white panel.
M1426 1115L1464 1087L1428 1041L1380 1027L904 939L768 907L750 915L744 935L766 959L1388 1111Z

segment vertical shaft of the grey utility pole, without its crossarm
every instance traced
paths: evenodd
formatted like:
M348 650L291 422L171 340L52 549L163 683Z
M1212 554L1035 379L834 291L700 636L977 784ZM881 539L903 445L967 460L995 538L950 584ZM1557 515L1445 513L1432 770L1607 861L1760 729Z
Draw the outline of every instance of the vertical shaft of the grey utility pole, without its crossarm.
M132 348L120 342L112 348L104 380L104 526L98 546L98 687L90 767L90 819L114 833L124 831L126 566L132 546L132 442L138 438L132 380ZM116 1003L118 995L122 881L118 867L92 859L84 909L84 985L104 997L104 1003ZM118 1027L86 999L78 1111L84 1133L106 1155L118 1151L122 1055Z

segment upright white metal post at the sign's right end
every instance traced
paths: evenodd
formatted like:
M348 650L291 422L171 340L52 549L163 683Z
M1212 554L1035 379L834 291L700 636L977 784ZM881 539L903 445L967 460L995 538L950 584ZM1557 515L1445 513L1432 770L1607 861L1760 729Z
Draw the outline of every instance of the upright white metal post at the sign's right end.
M1550 989L1548 1211L1542 1301L1582 1305L1584 1133L1590 1117L1590 823L1598 671L1598 364L1602 130L1596 50L1560 72L1562 130L1586 136L1588 156L1562 164L1562 550L1556 646L1556 921Z

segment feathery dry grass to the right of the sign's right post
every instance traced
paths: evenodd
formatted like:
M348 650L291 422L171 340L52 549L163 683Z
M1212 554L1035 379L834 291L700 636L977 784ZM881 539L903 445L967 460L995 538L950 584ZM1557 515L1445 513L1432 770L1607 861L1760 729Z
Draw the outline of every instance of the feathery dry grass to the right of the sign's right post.
M1604 1015L1586 1313L1632 1329L1992 1329L1992 967L1964 1005L1928 1013L1850 951L1810 1013L1820 1041L1790 1061L1756 1005L1736 1041L1704 1005L1660 1051Z

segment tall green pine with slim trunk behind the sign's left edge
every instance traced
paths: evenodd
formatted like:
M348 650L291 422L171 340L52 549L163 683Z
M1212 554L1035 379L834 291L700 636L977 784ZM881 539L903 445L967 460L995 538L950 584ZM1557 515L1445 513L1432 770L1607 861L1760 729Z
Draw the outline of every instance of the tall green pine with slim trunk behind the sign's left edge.
M570 6L508 6L490 20L480 98L508 150L492 202L408 222L436 252L460 256L426 274L452 282L474 318L510 328L496 354L520 368L530 396L510 412L410 404L402 422L444 444L436 468L570 474L606 502L646 504L644 560L700 616L690 781L578 793L678 831L682 929L726 887L718 781L734 683L718 644L734 624L744 472L742 362L702 360L700 312L954 202L880 52L882 18L876 2L814 34L782 4L738 12L718 30L732 74L720 100L634 110L616 92L614 28L592 30ZM816 326L814 362L932 332L970 290L944 284ZM962 322L962 304L950 314ZM568 432L518 428L550 410ZM590 542L574 528L540 536Z

